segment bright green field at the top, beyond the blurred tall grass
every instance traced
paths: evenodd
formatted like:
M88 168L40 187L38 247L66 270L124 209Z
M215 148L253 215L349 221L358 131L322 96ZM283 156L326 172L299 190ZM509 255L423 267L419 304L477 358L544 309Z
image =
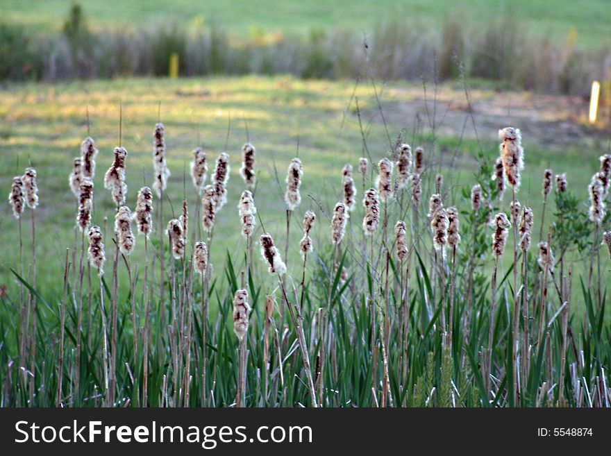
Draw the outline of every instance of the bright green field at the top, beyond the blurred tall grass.
M7 22L53 31L61 27L72 3L72 0L3 0L1 11ZM94 29L142 26L169 19L201 24L203 19L205 25L218 26L238 36L248 35L253 29L308 33L312 28L335 27L370 33L378 22L390 18L441 28L452 15L472 24L509 14L517 25L526 26L535 33L550 33L556 38L563 39L571 28L575 28L577 42L589 47L611 39L611 8L605 0L177 0L171 3L170 11L167 1L161 0L81 0L78 3L83 6Z

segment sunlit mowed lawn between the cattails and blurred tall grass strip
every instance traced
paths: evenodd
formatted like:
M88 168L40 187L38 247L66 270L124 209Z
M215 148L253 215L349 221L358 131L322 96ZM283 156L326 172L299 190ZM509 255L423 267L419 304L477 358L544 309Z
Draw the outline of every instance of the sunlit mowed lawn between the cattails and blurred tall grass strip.
M397 84L383 87L380 94L383 109L390 113L396 108L403 101L405 89L409 87L414 86ZM40 208L36 211L38 285L43 296L60 296L65 248L74 245L76 199L69 191L68 176L72 170L72 160L79 155L79 146L87 135L87 105L90 112L90 134L100 151L95 178L93 222L103 226L103 217L108 216L109 233L114 222L114 212L110 193L103 189L103 174L112 162L112 149L119 141L119 103L123 104L122 144L128 150L127 204L132 209L137 190L144 184L152 185L152 138L159 105L160 118L166 127L167 160L171 170L169 197L177 215L183 199L184 180L191 215L194 214L198 200L188 175L192 149L198 145L198 141L203 145L208 152L209 171L212 172L215 158L224 151L227 144L226 150L231 155L228 204L217 218L212 252L212 260L219 264L219 271L227 251L235 254L243 251L240 248L243 240L236 205L244 189L238 171L242 144L246 141L245 119L249 139L257 149L256 204L265 228L278 239L281 246L285 239L284 179L287 165L296 155L299 141L299 157L304 168L301 188L303 202L292 224L294 242L289 258L290 267L293 265L299 271L296 266L297 244L301 237L303 212L312 208L319 214L315 237L318 237L320 245L327 245L328 213L340 199L341 169L346 162L356 168L358 158L363 155L353 94L358 97L371 157L378 160L387 151L387 136L371 86L365 83L355 87L353 81L301 81L291 77L251 76L173 81L129 79L3 87L0 92L0 156L3 161L0 167L0 189L5 195L8 194L12 176L22 174L28 160L37 169L40 187ZM461 96L460 90L456 90L456 96ZM422 115L425 116L424 110ZM230 117L231 128L227 140ZM430 150L430 132L426 128L422 135L417 135L421 141L414 142L411 133L414 119L401 119L397 116L389 118L396 119L388 125L391 137L396 137L401 129L407 128L408 140L412 146L421 143L427 151ZM468 134L460 142L458 133L438 137L435 158L427 155L426 164L435 166L439 160L439 151L446 151L442 159L444 186L449 190L446 204L462 205L464 208L467 202L460 201L460 190L463 187L470 189L474 184L472 176L476 171L476 162L472 154L479 151L480 146ZM496 130L480 131L479 134L485 153L491 158L496 157ZM519 199L534 208L535 229L538 233L543 169L551 164L555 172L568 171L569 186L586 201L587 183L599 166L598 156L602 151L594 147L588 149L584 144L547 147L533 142L529 137L524 137L524 146L526 169ZM447 165L454 153L457 154L457 160L455 166L449 169ZM186 178L183 174L185 169ZM360 179L355 180L360 201ZM430 189L425 188L424 205L428 205L429 195ZM508 197L505 199L505 209ZM18 265L18 225L10 214L6 199L4 201L0 216L0 285L6 284L9 289L15 290L17 284L10 268L17 268ZM551 210L547 215L548 221L551 219ZM361 211L359 205L353 215L355 230L360 226ZM165 204L166 223L170 214L170 205ZM31 248L30 214L26 213L23 220L27 259ZM322 237L325 237L324 242ZM138 237L137 242L142 244L142 237ZM112 245L110 239L106 240L106 244L107 247ZM110 248L108 251L110 256ZM142 248L136 249L136 255L142 255ZM578 262L576 271L583 270L581 264Z

